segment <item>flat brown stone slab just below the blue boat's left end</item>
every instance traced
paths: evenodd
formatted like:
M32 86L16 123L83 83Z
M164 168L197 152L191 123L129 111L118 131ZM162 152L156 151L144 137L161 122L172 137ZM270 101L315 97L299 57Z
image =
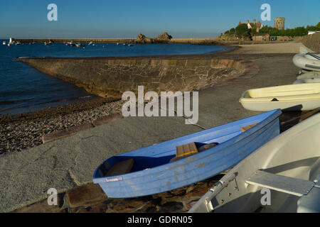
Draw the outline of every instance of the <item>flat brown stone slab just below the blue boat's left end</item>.
M66 192L70 207L89 206L105 201L107 195L102 191L99 184L86 184Z

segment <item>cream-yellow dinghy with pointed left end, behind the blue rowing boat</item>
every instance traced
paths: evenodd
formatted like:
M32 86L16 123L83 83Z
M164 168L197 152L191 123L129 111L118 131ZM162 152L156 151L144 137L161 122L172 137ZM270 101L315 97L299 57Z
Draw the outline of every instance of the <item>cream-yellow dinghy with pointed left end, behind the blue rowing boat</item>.
M250 111L308 111L320 106L320 83L250 89L239 101Z

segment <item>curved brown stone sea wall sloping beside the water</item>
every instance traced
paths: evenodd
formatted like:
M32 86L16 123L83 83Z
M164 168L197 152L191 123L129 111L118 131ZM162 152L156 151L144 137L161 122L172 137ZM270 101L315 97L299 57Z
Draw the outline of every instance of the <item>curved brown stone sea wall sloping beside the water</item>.
M121 98L123 92L194 91L239 77L252 62L221 59L129 57L20 58L41 72L83 87L92 94ZM249 65L249 67L248 67ZM254 66L253 66L254 67Z

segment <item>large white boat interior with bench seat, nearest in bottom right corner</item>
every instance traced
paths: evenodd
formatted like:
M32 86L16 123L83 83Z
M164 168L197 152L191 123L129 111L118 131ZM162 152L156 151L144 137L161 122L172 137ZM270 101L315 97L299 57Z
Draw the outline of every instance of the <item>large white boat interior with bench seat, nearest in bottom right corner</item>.
M319 213L319 137L320 114L316 114L242 160L189 212ZM271 190L268 203L262 198L267 189Z

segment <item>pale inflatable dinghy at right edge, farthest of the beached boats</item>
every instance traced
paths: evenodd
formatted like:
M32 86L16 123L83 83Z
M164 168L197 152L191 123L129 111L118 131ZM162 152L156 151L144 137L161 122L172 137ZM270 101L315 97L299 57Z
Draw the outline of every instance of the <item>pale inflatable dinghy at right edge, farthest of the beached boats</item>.
M300 48L300 52L293 57L294 65L303 70L311 70L320 72L320 55L308 52L304 48Z

